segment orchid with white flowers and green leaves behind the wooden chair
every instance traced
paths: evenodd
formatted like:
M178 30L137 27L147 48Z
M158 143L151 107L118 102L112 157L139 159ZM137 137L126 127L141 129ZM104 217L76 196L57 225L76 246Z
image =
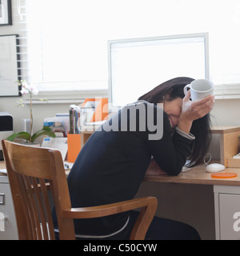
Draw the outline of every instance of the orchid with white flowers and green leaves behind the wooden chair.
M7 140L13 142L15 138L23 138L26 140L26 143L34 143L35 139L38 138L41 135L48 135L50 137L55 138L54 132L50 129L50 127L43 126L42 130L38 130L33 134L33 109L32 109L32 99L33 99L33 94L37 95L38 90L37 87L33 84L28 85L28 83L25 80L20 80L17 81L18 86L22 86L21 93L22 94L30 94L30 133L22 131L19 133L14 133L10 135ZM47 101L46 98L39 99L40 101ZM24 106L22 99L19 100L17 106Z

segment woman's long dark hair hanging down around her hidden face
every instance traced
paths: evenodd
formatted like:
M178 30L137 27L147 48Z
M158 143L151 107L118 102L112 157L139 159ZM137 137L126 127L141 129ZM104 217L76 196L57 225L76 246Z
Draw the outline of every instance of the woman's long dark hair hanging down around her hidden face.
M170 96L170 98L168 98L169 101L175 98L184 98L183 88L192 81L194 81L193 78L186 77L170 79L142 95L138 100L145 100L146 102L157 104L163 102L163 98L166 95ZM190 132L194 134L195 140L192 154L189 158L189 166L197 166L203 162L210 146L210 114L206 114L204 117L194 120Z

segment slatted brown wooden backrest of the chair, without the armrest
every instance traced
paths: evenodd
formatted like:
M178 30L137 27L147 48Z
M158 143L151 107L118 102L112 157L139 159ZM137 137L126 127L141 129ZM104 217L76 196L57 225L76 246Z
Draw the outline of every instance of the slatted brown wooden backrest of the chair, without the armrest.
M70 208L71 204L60 151L6 140L2 141L2 150L14 202L18 238L55 238L48 195L50 188L60 238L75 239L73 220L61 218L61 209Z

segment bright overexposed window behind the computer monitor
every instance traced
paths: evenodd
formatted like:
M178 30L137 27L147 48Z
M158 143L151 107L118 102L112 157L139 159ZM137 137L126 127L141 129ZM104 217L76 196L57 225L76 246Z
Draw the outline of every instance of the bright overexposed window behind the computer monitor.
M216 94L240 95L238 0L24 2L30 81L39 90L106 90L108 40L208 32Z

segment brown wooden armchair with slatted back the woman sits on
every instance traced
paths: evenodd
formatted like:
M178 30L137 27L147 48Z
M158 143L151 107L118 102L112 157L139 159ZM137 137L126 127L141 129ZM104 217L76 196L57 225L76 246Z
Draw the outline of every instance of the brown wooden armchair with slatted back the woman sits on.
M48 187L58 218L60 239L75 239L74 218L98 218L141 208L130 239L144 239L157 199L138 198L105 206L71 208L70 194L60 151L2 141L6 170L14 202L18 238L55 239Z

